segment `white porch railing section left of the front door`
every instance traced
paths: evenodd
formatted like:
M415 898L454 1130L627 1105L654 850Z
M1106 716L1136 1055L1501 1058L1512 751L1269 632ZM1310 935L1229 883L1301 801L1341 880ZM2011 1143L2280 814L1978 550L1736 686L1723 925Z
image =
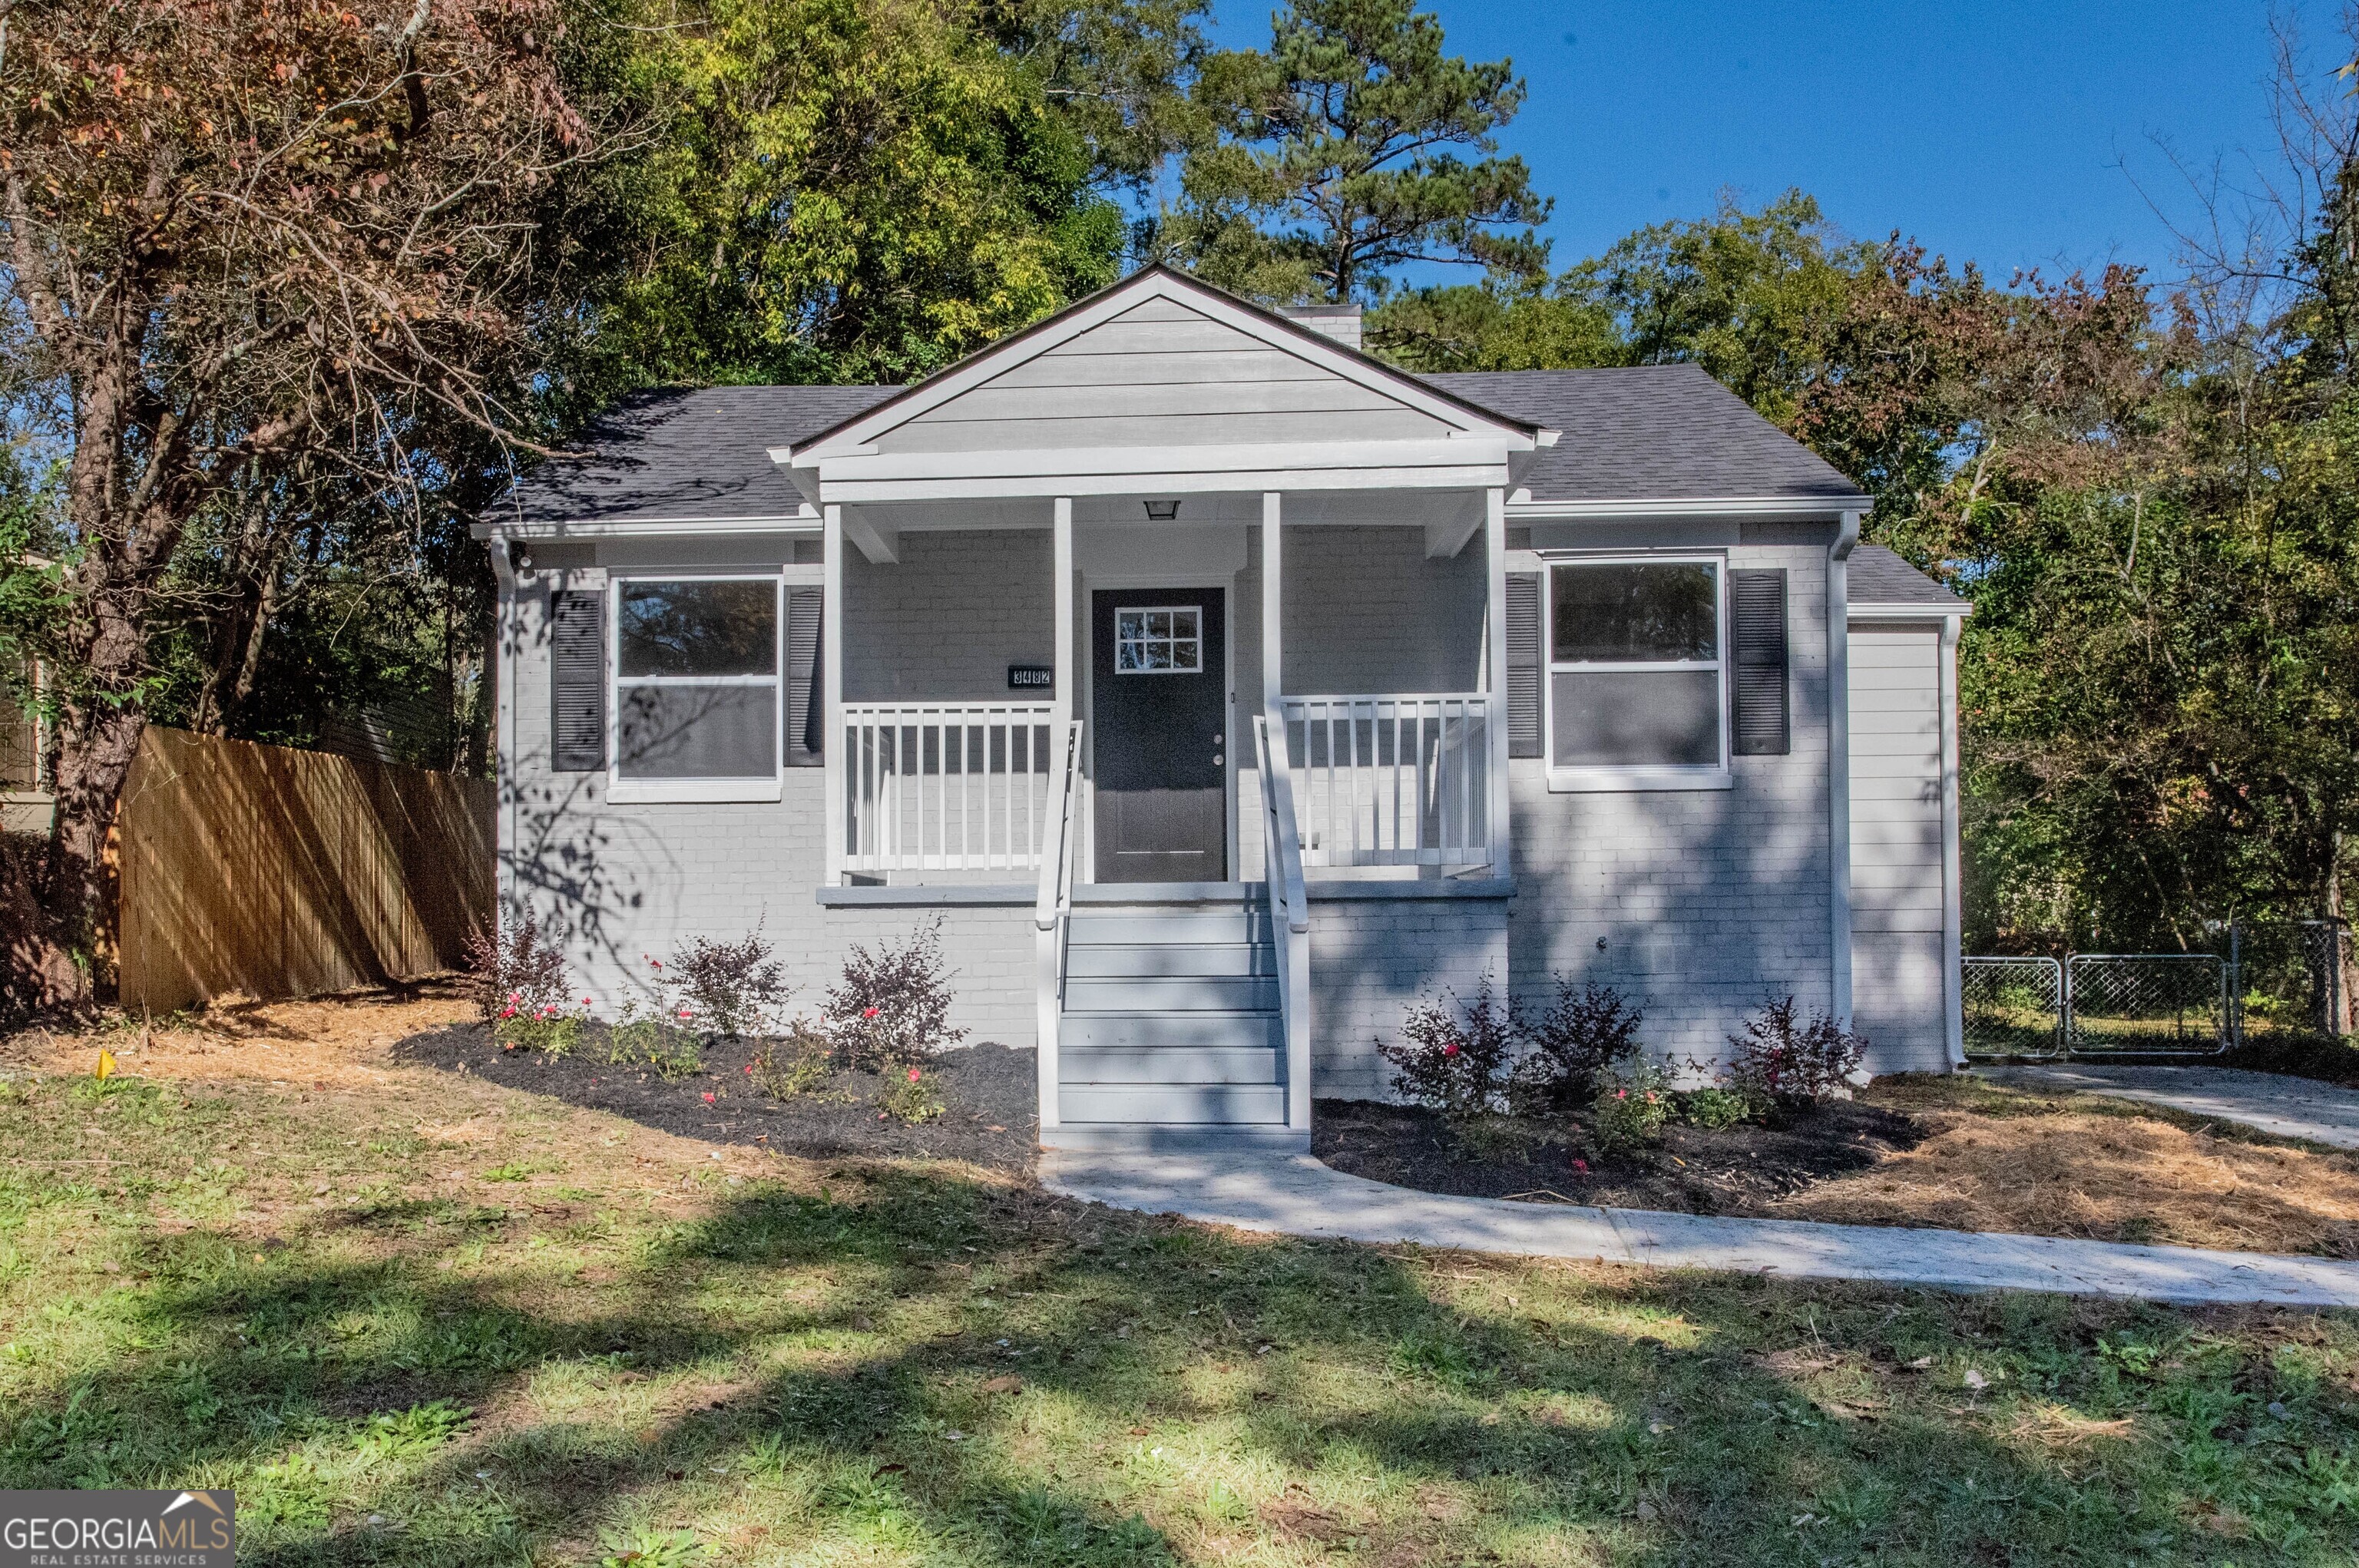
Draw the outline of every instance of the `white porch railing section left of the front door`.
M1038 870L1052 703L845 703L845 870Z

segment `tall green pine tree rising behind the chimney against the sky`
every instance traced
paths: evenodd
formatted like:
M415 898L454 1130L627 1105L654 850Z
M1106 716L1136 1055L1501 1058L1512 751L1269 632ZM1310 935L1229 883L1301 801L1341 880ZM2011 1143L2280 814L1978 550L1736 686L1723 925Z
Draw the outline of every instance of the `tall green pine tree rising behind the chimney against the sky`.
M1208 59L1196 101L1217 134L1187 153L1151 250L1293 302L1380 299L1408 262L1540 276L1550 203L1498 156L1524 80L1441 47L1408 0L1295 0L1267 54Z

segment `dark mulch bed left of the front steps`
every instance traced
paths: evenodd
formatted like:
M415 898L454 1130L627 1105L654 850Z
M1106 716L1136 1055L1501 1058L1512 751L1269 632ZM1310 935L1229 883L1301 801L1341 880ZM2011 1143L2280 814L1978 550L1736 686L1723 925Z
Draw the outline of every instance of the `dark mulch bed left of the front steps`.
M826 1089L769 1099L745 1080L757 1042L712 1040L703 1070L663 1080L606 1061L606 1028L592 1023L583 1042L559 1059L500 1047L479 1023L460 1023L394 1045L394 1056L474 1073L507 1089L550 1094L571 1106L611 1111L642 1127L658 1127L715 1144L753 1144L811 1160L903 1155L970 1160L993 1170L1029 1172L1038 1106L1033 1052L970 1045L944 1052L944 1113L932 1122L880 1118L882 1087L873 1073L837 1073ZM715 1101L708 1106L705 1094Z

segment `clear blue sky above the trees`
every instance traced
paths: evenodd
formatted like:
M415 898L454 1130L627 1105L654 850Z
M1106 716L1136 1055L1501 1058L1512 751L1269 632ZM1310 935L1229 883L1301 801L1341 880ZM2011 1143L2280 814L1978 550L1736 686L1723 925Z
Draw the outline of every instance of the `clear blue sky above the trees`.
M2265 0L1427 0L1467 59L1507 54L1531 101L1505 134L1557 198L1557 262L1630 229L1788 186L1845 231L1901 229L2015 266L2137 262L2175 276L2166 224L2182 158L2272 146ZM1227 0L1217 35L1269 40L1267 2ZM2333 66L2333 7L2281 7ZM2125 167L2123 167L2125 165Z

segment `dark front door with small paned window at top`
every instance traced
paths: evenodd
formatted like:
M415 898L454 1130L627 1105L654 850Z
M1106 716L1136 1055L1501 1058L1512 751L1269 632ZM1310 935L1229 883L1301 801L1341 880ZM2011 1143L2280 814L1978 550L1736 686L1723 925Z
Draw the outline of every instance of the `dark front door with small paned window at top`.
M1229 879L1229 627L1217 587L1090 599L1099 882Z

